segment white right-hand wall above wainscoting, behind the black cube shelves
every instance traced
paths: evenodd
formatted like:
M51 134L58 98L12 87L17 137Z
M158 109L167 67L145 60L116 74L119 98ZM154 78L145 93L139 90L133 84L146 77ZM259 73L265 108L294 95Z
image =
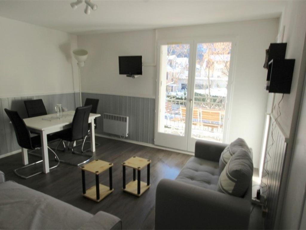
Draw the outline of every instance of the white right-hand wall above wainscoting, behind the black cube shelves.
M299 111L301 92L304 82L304 73L306 66L305 63L305 51L304 40L306 32L306 1L292 1L289 2L285 8L281 21L280 28L285 26L284 42L287 42L286 58L295 59L293 79L291 85L290 94L285 94L283 101L281 102L282 115L278 121L286 134L289 136L295 133L295 126L297 120L297 114ZM275 95L275 104L280 101L282 94ZM277 117L277 109L273 112Z

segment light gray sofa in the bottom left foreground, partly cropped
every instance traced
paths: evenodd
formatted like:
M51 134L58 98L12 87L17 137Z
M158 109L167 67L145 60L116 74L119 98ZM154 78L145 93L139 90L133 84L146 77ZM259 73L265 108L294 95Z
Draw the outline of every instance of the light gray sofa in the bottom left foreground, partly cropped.
M93 204L94 205L94 204ZM122 229L109 213L87 213L13 181L0 171L0 229Z

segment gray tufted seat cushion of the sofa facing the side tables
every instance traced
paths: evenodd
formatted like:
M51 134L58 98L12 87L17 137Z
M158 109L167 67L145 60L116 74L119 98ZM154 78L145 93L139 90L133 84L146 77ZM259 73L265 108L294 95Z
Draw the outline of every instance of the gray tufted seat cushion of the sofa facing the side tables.
M220 177L219 163L192 157L175 180L195 186L217 190Z

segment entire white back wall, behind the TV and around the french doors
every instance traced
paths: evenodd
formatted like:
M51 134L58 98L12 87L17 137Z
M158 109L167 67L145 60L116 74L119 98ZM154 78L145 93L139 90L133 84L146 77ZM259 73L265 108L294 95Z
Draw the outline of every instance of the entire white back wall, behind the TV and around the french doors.
M278 19L244 21L157 29L158 40L180 38L237 37L229 140L244 138L253 148L254 166L259 166L267 92L263 89L265 49L275 41ZM144 67L143 76L130 79L118 75L118 56L142 55L154 62L155 31L106 33L78 36L78 46L89 52L81 70L85 92L155 98L156 68ZM158 54L157 54L158 55Z

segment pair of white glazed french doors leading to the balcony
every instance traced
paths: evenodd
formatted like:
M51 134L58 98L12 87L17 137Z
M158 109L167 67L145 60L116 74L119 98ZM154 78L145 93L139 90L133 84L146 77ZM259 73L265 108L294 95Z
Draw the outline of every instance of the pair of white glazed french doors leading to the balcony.
M194 152L196 140L224 142L233 39L159 42L155 144Z

